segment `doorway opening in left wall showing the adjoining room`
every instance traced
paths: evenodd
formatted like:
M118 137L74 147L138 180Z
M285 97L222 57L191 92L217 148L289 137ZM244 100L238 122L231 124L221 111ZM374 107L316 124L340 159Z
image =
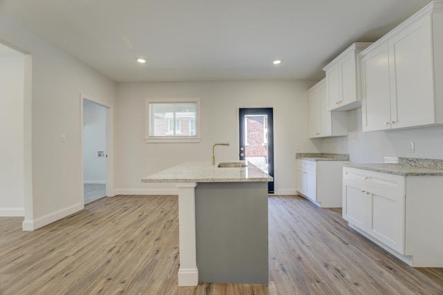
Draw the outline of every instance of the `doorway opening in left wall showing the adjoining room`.
M107 196L107 107L82 99L84 204Z

